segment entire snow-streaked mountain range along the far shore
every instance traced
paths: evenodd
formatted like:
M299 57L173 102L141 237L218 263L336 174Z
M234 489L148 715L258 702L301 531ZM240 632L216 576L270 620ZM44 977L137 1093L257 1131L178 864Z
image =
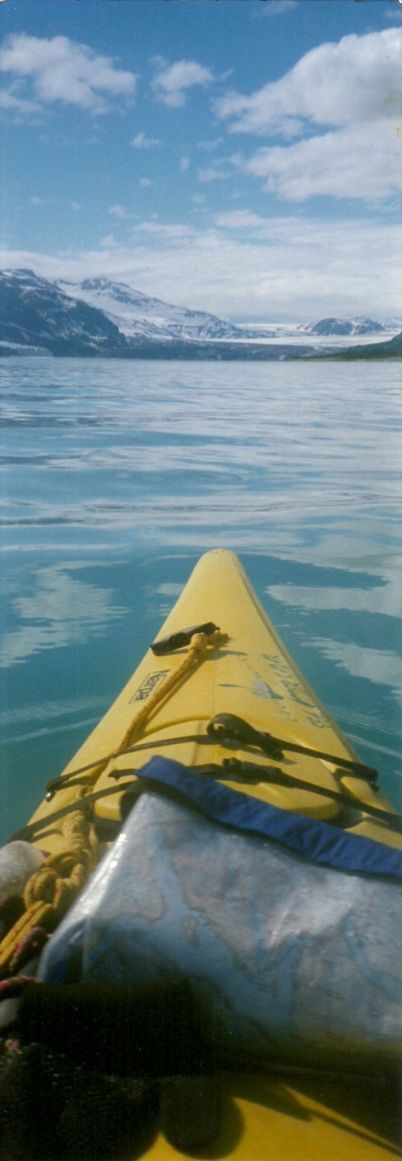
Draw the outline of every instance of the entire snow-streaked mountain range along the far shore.
M165 303L106 277L74 283L50 281L26 268L0 272L0 354L260 361L330 356L338 353L333 346L309 346L302 337L314 340L331 334L386 336L389 331L386 324L367 318L329 318L293 329L267 324L259 330ZM347 354L347 348L342 353Z

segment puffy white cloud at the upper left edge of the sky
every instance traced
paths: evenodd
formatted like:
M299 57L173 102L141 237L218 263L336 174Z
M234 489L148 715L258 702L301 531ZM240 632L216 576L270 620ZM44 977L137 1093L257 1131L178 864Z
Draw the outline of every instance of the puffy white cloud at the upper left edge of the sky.
M26 33L3 42L0 72L12 77L2 107L14 106L27 114L53 102L105 113L110 99L132 96L137 80L135 73L117 68L110 57L98 56L86 44L66 36L46 39ZM27 101L27 91L34 101Z

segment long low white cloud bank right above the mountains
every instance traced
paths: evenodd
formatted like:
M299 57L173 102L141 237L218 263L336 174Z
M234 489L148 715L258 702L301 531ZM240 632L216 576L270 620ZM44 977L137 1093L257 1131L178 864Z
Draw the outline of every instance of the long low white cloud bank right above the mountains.
M167 302L244 320L399 316L397 225L261 215L242 235L239 218L236 228L232 217L209 228L207 221L206 209L202 222L194 209L194 224L148 219L131 228L128 245L76 254L3 250L0 267L72 281L107 275Z

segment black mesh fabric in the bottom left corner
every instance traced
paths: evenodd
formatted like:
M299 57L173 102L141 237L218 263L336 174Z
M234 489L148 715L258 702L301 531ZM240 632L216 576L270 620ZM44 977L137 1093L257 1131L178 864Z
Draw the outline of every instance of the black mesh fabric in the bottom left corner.
M158 1123L156 1082L105 1076L30 1045L0 1066L1 1161L141 1155Z

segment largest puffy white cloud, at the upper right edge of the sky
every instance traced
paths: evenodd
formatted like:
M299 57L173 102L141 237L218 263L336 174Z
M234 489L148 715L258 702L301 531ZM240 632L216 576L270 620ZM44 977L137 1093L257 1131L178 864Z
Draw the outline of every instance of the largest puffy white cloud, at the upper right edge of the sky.
M266 190L289 201L387 199L400 186L400 30L321 44L280 80L228 93L215 110L231 132L302 137L237 158Z

